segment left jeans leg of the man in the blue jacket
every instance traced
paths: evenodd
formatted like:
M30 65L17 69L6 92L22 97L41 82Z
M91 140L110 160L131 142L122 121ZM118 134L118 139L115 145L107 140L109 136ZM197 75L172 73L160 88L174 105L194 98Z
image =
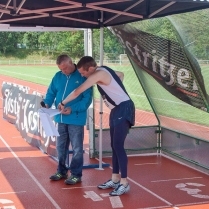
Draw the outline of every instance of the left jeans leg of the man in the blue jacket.
M66 166L66 158L68 156L68 149L69 149L69 135L68 129L66 124L59 123L58 124L58 132L60 134L57 137L57 154L58 154L58 169L57 171L63 175L67 174L68 168Z

